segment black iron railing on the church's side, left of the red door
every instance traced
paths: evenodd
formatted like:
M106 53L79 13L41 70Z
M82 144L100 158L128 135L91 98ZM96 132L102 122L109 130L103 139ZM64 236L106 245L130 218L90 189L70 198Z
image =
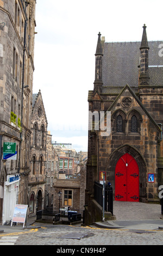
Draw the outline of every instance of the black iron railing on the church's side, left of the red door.
M103 185L95 181L94 196L96 202L103 207ZM104 209L113 215L113 191L110 185L104 187Z

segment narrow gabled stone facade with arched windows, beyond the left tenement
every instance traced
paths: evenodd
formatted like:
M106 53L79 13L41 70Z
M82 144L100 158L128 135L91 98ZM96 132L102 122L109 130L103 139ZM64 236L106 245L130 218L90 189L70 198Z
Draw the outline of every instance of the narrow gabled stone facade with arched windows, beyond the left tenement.
M30 173L28 176L29 217L42 210L45 200L47 168L47 118L41 91L33 94L30 136Z

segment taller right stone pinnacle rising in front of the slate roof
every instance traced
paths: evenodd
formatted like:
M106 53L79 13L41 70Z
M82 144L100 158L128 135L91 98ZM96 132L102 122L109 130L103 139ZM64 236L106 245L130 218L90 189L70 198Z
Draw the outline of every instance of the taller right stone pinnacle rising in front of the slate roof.
M149 74L148 74L148 41L146 33L146 25L143 26L143 34L140 46L140 76L139 76L139 85L148 85L149 84Z

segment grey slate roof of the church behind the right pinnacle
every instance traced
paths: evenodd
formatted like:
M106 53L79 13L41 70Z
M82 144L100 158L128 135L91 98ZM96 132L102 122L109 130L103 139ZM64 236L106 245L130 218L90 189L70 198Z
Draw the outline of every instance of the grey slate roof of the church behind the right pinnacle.
M163 41L148 41L149 84L163 86L163 57L159 56ZM138 87L141 42L105 42L102 64L103 87Z

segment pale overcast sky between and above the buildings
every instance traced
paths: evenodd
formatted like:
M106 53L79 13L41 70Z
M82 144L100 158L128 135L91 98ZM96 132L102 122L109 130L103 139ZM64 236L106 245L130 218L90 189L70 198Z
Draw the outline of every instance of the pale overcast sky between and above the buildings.
M162 0L37 0L33 93L41 90L52 141L87 151L88 91L98 32L106 42L162 40Z

